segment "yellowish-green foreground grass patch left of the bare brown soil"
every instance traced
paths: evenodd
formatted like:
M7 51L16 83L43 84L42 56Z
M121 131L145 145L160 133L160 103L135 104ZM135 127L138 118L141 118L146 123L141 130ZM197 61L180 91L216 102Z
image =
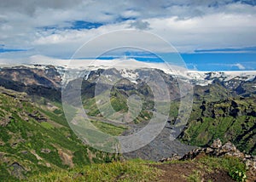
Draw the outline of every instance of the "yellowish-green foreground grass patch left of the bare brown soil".
M159 170L142 160L92 164L70 171L42 173L32 181L155 181Z

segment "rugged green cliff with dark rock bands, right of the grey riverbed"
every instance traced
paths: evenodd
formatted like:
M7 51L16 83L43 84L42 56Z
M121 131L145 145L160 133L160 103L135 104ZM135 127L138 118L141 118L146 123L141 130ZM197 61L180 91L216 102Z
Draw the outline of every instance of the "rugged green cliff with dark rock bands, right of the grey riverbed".
M213 139L232 141L241 151L256 154L256 98L229 98L217 102L204 100L194 105L187 128L180 136L191 145L207 145ZM198 107L200 109L198 109Z

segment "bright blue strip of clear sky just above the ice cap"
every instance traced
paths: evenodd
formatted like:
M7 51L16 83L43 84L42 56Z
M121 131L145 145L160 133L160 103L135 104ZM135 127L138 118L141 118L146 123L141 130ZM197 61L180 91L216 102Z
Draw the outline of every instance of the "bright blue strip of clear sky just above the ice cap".
M197 71L255 71L256 53L192 53L179 54L189 70ZM160 54L166 62L173 63L177 54ZM112 60L120 56L102 56L102 60ZM127 59L135 59L146 62L163 62L159 57L149 56L148 54L125 54ZM86 58L85 58L86 59ZM91 59L91 58L87 58ZM172 61L168 61L172 60ZM180 65L180 64L177 64Z

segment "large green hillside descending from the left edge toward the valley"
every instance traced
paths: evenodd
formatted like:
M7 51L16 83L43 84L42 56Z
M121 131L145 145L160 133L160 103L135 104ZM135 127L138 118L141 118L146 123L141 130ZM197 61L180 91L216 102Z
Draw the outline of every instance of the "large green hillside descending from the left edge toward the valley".
M68 128L60 105L39 107L26 94L3 88L0 100L0 179L111 161L112 156L81 143ZM20 172L14 162L23 168Z

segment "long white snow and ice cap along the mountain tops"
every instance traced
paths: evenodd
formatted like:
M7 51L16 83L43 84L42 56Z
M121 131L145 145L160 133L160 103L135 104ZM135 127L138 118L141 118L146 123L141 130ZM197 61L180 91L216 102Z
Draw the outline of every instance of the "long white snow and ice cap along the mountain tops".
M137 60L75 60L69 65L63 64L63 61L52 61L62 78L62 84L77 77L86 77L90 71L98 69L107 70L115 68L119 71L122 77L129 79L131 82L137 82L138 71L141 69L159 69L174 78L184 82L190 82L193 85L206 86L213 81L224 82L227 87L236 87L239 82L252 81L256 77L256 71L189 71L180 66L169 67L163 63L146 63ZM14 65L2 65L1 67L12 67ZM17 66L17 65L16 65ZM25 65L30 68L46 69L48 65L30 64ZM255 85L256 86L256 85Z

